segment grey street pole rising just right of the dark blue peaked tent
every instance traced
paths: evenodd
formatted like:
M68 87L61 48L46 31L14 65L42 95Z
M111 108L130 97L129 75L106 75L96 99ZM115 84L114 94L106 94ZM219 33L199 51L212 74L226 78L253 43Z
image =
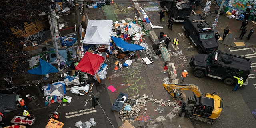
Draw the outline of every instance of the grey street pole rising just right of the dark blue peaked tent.
M51 34L52 34L52 42L53 42L53 47L56 51L58 71L60 72L62 70L60 69L60 57L59 57L59 51L58 51L58 44L57 44L57 40L56 40L55 25L54 25L54 21L53 21L53 20L56 20L56 19L53 18L54 13L56 13L56 12L55 12L55 10L52 10L51 6L49 8L50 8L51 14L48 15L48 18L49 18L50 30L51 30ZM56 26L56 29L57 29L57 26Z

